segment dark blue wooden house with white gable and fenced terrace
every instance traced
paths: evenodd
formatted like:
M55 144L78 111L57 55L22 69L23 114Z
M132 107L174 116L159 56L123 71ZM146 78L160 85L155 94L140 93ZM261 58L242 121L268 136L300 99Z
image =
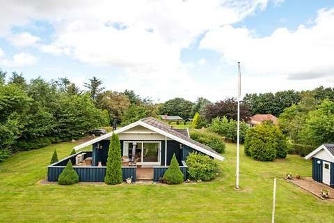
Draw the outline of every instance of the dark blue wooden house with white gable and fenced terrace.
M189 137L188 130L177 130L156 118L143 118L126 125L114 133L120 138L123 180L154 180L164 176L170 160L175 154L186 179L186 157L189 153L198 152L209 155L217 160L223 156L209 146L200 144ZM89 148L91 151L81 151L48 167L48 180L56 181L69 159L77 163L78 155L82 160L90 160L89 164L74 165L81 181L103 181L108 157L109 142L113 132L96 137L84 144L75 146L75 150ZM80 155L83 154L83 155ZM91 164L90 164L91 163Z

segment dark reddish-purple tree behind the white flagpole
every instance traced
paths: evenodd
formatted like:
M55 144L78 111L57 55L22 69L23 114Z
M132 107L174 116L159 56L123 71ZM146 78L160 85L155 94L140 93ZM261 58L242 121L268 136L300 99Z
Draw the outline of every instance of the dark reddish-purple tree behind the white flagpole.
M228 119L237 120L237 100L236 98L228 98L221 100L212 105L207 105L205 112L205 118L208 121L212 121L212 118L226 116ZM241 120L247 120L249 116L248 107L241 103L240 105L240 118Z

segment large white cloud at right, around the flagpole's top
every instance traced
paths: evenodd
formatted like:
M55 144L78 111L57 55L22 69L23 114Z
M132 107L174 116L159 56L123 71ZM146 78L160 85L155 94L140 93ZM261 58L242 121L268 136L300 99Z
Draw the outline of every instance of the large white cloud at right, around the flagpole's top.
M221 52L230 64L241 61L248 73L288 75L289 79L327 77L334 74L333 24L334 8L319 10L310 27L280 28L263 38L228 25L207 32L200 47Z

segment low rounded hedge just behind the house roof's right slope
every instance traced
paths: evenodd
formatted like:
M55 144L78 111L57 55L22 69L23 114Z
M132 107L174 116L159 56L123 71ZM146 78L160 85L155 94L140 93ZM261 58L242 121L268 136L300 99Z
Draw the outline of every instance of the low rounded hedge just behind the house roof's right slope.
M221 137L216 136L216 134L204 132L204 131L196 131L192 130L190 132L191 139L200 142L201 144L205 144L209 146L217 153L225 152L225 144Z

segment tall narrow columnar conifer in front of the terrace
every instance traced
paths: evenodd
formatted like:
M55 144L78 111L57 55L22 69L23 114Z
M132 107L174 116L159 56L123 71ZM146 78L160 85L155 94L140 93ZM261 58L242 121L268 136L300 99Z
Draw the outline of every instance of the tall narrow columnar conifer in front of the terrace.
M122 160L120 157L120 139L118 138L118 134L113 134L111 137L104 182L111 185L122 183Z

